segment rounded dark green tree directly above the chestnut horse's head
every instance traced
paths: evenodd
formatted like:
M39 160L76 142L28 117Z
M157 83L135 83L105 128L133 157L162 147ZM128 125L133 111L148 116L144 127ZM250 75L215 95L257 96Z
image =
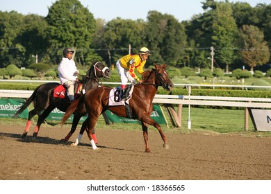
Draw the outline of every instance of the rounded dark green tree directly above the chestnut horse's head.
M163 15L157 11L149 11L147 22L146 42L154 51L150 61L173 66L182 64L185 55L183 48L187 45L183 24L172 15Z

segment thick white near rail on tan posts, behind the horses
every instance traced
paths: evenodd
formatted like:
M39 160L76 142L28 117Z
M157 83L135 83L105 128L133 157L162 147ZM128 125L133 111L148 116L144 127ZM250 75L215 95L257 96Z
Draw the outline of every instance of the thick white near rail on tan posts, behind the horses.
M28 98L33 91L0 89L0 98ZM245 130L248 130L249 113L247 108L271 109L271 98L242 98L242 97L220 97L220 96L178 96L156 94L154 103L165 105L167 113L170 114L172 124L176 122L181 127L181 110L183 105L208 105L225 107L245 107ZM178 105L175 112L174 106ZM171 115L172 114L172 115ZM174 118L174 121L173 121Z

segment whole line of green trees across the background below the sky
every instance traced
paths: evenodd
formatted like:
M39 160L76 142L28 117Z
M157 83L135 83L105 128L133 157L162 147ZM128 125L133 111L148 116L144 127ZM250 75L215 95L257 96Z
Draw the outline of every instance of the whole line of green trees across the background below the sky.
M94 60L110 66L142 46L152 51L147 67L156 62L211 69L213 62L228 72L270 63L271 4L206 0L202 8L204 13L188 21L150 10L146 20L106 22L95 19L79 0L56 1L46 17L0 12L0 68L28 68L36 57L55 65L65 47L74 48L74 60L82 67Z

